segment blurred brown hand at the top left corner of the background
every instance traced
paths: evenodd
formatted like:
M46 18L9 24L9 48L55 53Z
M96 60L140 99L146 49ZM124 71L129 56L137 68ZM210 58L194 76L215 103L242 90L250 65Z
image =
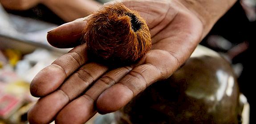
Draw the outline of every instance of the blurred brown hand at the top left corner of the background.
M0 0L3 7L10 10L27 10L40 2L41 0Z

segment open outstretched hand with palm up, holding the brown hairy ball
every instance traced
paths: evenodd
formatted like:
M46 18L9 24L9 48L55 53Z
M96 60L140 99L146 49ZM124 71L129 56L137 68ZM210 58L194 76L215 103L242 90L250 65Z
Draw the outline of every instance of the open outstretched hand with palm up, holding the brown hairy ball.
M76 47L33 79L31 93L41 98L28 112L31 124L53 120L82 124L96 112L114 112L147 86L170 77L202 39L202 21L177 0L133 0L123 4L146 19L151 50L134 65L110 69L90 62L86 44L79 45L86 26L84 19L50 31L48 40L53 46Z

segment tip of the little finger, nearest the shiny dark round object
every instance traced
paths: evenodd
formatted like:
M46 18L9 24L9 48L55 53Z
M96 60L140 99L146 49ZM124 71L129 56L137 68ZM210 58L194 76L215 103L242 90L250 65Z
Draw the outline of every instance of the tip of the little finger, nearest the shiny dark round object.
M125 106L133 98L133 92L120 83L104 91L96 101L96 107L100 114L117 111Z

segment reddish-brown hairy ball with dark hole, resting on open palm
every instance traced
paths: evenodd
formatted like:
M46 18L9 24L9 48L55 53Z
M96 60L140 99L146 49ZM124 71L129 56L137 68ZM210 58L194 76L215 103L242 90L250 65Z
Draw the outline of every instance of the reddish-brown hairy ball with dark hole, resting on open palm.
M87 19L83 43L89 58L102 64L132 64L151 47L150 31L138 12L121 3L103 6Z

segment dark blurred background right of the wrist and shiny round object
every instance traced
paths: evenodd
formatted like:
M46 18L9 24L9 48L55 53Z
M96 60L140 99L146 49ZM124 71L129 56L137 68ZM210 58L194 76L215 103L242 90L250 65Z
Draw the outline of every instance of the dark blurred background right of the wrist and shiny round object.
M232 65L240 92L244 93L250 104L250 124L256 124L255 42L256 0L239 0L200 43L222 54Z

